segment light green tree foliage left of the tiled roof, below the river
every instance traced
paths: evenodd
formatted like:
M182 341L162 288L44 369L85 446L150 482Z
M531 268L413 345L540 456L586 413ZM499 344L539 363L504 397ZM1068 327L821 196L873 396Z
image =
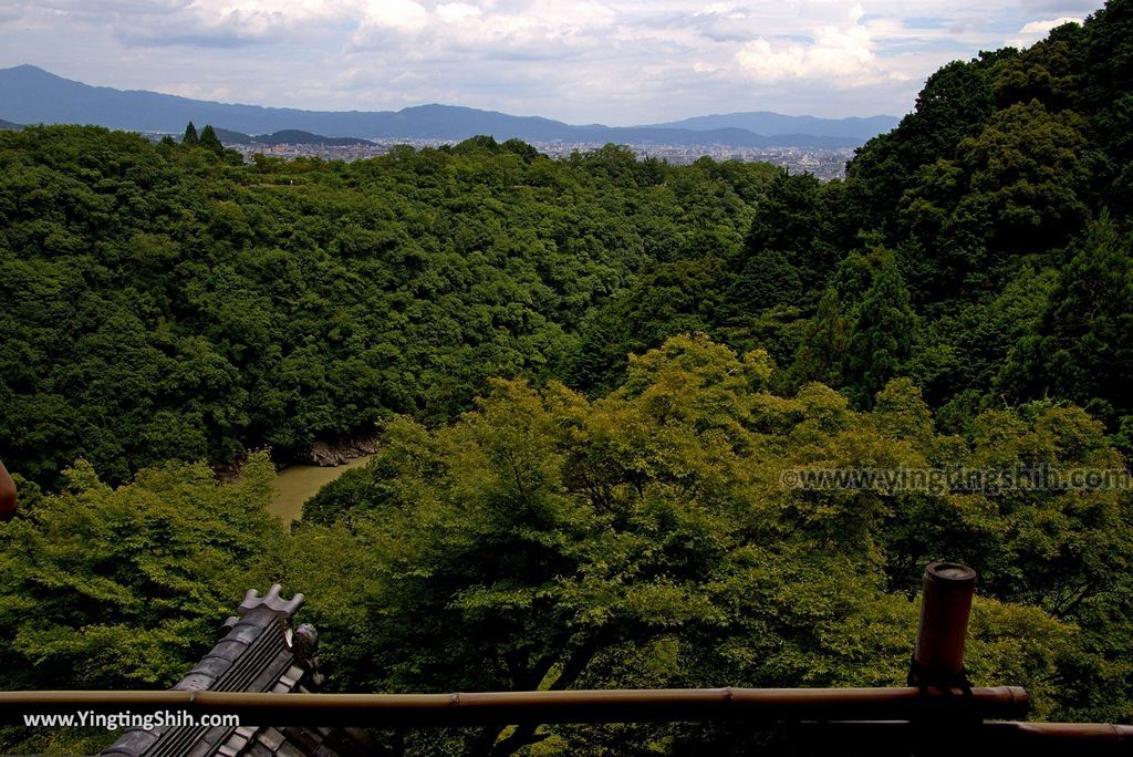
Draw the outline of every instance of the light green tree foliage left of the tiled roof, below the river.
M0 689L172 686L244 592L278 575L274 475L258 453L237 484L170 463L113 488L80 460L63 492L22 502L0 522ZM86 748L67 742L82 734L25 735L33 751Z

